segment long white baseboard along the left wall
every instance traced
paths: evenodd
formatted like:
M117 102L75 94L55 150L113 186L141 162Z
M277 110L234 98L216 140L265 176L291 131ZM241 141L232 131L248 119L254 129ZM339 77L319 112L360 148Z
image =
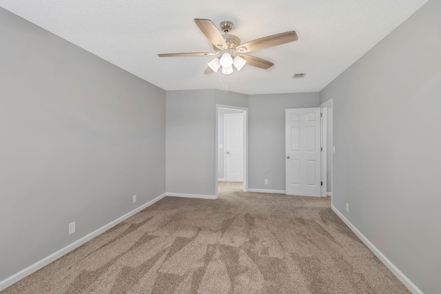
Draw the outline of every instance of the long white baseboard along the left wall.
M57 260L58 258L61 258L61 256L65 255L66 253L76 249L77 247L81 246L85 242L88 242L89 240L95 238L97 235L104 233L108 229L116 226L116 224L119 224L123 220L130 218L130 216L133 216L135 213L138 213L139 211L145 209L145 207L149 207L150 205L154 204L154 202L157 202L158 200L161 200L164 198L165 193L163 193L161 196L158 196L154 198L153 200L150 200L149 202L141 205L140 207L125 213L125 215L120 216L119 218L116 218L116 220L113 220L112 222L109 222L108 224L105 224L103 227L96 229L92 233L89 233L88 235L85 235L83 238L80 238L79 240L76 240L75 242L72 242L68 246L65 246L64 248L60 249L57 252L52 253L51 255L43 258L42 260L39 260L38 262L35 262L34 264L31 264L27 268L23 269L22 271L19 271L18 273L11 275L10 277L7 277L5 280L0 282L0 291L2 291L5 288L8 288L12 284L19 282L19 280L23 279L23 277L27 277L31 273L34 273L35 271L38 271L43 266L46 266L53 262L54 260Z

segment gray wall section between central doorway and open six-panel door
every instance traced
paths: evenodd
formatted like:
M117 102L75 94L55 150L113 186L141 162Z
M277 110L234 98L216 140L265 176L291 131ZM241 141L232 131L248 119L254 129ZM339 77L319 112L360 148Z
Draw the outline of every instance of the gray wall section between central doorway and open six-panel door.
M249 96L250 189L285 190L285 109L319 104L318 92Z

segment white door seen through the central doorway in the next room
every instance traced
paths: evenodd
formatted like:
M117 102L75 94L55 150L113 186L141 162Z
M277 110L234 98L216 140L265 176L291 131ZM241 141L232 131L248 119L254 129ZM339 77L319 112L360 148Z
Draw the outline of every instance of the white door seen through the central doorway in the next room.
M225 174L227 182L243 182L243 114L225 114Z

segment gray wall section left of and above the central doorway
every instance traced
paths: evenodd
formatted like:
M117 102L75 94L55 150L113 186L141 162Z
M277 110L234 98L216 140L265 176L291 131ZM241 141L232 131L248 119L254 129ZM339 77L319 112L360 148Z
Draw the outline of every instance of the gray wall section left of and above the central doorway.
M216 104L248 107L221 90L167 91L167 192L214 195Z

